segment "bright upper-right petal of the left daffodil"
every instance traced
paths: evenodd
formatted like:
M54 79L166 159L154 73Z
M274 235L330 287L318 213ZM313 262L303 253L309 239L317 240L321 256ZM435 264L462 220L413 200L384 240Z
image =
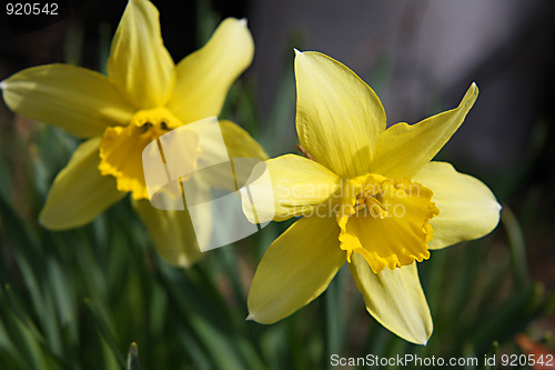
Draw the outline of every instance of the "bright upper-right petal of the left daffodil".
M228 90L251 64L253 54L246 21L225 19L202 49L178 64L168 108L183 123L220 114Z

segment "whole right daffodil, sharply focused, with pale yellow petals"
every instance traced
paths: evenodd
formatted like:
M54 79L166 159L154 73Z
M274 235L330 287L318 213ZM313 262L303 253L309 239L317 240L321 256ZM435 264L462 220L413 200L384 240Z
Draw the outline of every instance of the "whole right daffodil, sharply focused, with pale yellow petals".
M249 293L250 319L281 320L319 297L349 261L367 311L426 343L433 323L415 261L491 232L500 204L480 180L431 161L474 104L385 129L374 91L340 62L297 52L296 130L307 158L266 161L274 199L250 186L260 222L303 216L268 249ZM243 210L248 207L243 203ZM252 219L252 216L250 217Z

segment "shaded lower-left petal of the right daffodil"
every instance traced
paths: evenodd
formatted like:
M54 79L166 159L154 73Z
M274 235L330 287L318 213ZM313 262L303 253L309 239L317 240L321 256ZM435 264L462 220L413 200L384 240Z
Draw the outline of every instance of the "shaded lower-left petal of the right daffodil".
M249 319L281 320L319 297L345 263L335 220L302 218L268 249L249 292Z

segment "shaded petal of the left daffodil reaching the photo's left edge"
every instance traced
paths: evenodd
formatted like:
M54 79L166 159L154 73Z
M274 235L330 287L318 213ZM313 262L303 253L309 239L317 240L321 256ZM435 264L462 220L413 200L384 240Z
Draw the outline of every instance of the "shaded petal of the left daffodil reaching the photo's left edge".
M89 138L124 124L133 108L105 76L68 64L24 69L0 82L6 104L16 113Z

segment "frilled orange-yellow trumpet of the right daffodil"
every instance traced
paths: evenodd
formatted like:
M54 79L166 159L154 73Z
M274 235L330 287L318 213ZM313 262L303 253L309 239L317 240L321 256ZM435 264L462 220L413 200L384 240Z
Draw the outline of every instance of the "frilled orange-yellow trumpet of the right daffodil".
M344 182L337 224L351 262L362 254L375 273L430 257L430 220L440 213L432 190L410 179L365 174Z

